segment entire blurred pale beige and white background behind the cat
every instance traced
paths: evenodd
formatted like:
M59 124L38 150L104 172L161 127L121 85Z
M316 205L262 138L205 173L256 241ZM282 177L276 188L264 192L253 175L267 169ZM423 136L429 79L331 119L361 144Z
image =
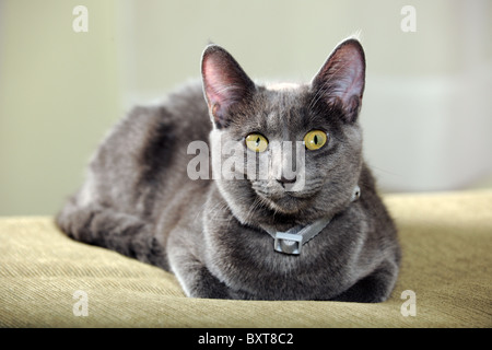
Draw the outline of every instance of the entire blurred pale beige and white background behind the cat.
M0 0L0 215L56 213L110 126L199 78L209 42L259 81L309 81L355 32L380 190L492 187L490 0Z

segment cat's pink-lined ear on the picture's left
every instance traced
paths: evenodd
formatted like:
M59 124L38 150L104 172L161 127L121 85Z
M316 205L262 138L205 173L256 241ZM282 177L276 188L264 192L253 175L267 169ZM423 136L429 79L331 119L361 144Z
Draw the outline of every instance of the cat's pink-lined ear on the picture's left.
M203 51L201 75L210 116L218 128L226 127L233 108L245 102L256 85L236 60L218 45L209 45Z

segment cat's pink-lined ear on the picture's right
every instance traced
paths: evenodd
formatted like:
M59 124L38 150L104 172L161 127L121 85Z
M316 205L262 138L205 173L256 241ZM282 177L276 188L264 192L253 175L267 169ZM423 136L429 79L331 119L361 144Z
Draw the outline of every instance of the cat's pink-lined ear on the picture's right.
M315 98L341 108L344 122L354 122L362 105L365 84L365 57L359 40L350 38L337 46L315 75Z

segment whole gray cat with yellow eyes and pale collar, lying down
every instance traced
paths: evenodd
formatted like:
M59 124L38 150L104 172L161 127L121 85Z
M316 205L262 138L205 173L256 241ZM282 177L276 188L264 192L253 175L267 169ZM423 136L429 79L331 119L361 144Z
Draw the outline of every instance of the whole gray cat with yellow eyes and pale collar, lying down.
M192 298L385 301L400 248L362 156L360 43L309 84L255 84L216 45L201 68L112 130L59 228L172 271Z

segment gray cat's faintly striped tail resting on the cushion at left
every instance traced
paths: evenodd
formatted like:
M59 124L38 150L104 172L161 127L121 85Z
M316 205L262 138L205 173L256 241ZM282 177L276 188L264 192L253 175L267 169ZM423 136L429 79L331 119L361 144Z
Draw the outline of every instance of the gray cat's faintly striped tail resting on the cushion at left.
M154 225L140 218L96 203L80 207L70 198L55 219L69 237L116 250L168 270L163 244L155 236Z

